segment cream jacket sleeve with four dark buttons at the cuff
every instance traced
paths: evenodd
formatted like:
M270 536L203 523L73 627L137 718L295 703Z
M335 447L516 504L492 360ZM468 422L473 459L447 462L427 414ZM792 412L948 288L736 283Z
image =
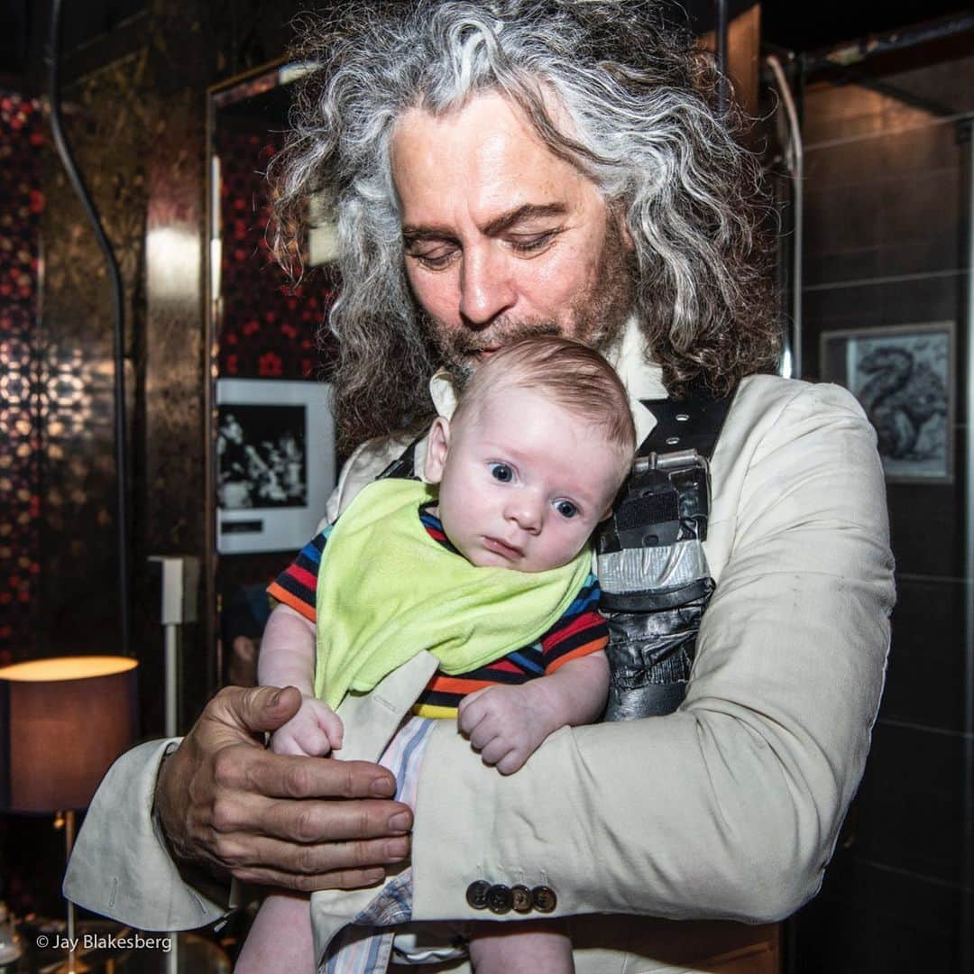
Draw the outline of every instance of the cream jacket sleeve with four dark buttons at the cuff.
M817 891L879 706L892 559L862 411L836 387L784 388L735 404L714 458L720 571L681 708L563 729L508 777L440 722L414 919L483 918L474 880L543 883L563 915L751 922Z

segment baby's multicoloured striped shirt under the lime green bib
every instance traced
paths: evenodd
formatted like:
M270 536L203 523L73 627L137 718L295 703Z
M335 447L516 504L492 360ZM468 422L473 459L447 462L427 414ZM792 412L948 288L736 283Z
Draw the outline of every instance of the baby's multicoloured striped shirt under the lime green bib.
M427 533L447 550L463 557L449 542L443 533L443 525L429 507L426 505L419 510ZM317 618L315 592L321 552L330 533L329 526L307 543L268 588L268 592L279 602L312 622ZM595 576L589 574L572 604L540 639L468 673L450 676L437 670L420 694L415 712L422 717L455 717L458 704L468 693L496 684L527 683L528 680L553 673L569 659L604 650L609 642L609 629L605 619L596 611L598 604L599 585Z

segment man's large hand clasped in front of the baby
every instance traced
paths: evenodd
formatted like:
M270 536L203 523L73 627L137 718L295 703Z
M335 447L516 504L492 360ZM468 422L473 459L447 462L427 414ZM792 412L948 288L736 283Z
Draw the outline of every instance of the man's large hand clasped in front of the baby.
M238 880L308 892L382 880L409 852L412 812L378 765L264 750L301 694L228 687L166 760L156 810L172 852Z

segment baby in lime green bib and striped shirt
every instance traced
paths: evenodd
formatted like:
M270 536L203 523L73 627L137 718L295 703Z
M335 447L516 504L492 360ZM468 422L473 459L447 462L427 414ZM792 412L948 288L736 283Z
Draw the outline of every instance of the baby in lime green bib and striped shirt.
M608 633L587 542L612 509L634 438L625 391L590 349L542 337L489 356L453 417L431 426L424 472L438 491L375 481L272 586L283 604L268 623L259 680L297 687L304 700L271 748L338 750L334 707L421 649L439 669L411 720L456 716L502 774L553 731L597 720ZM397 797L409 801L416 763L394 770ZM311 945L308 900L271 895L237 970L309 970ZM554 921L471 924L469 954L481 974L573 970Z

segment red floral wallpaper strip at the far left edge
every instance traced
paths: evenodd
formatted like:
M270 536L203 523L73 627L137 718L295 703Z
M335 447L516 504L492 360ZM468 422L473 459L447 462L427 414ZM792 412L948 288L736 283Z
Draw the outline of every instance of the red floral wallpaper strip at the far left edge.
M36 638L31 587L41 570L43 145L38 102L0 92L0 665L32 656Z

